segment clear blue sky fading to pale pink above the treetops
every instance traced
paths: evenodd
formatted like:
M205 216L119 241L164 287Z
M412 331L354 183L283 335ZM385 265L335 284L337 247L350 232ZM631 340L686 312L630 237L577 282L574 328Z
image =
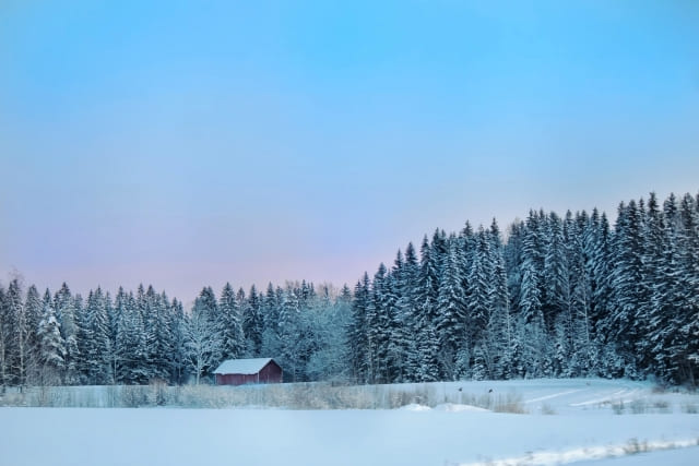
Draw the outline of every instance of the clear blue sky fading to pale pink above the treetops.
M691 0L0 0L0 280L352 286L437 227L697 193L697 24Z

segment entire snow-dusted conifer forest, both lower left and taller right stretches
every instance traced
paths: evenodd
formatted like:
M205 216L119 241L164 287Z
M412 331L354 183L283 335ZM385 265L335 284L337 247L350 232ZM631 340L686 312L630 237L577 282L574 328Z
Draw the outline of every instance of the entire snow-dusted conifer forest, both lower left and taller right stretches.
M0 286L0 383L181 384L274 357L285 381L699 377L699 195L436 230L351 289Z

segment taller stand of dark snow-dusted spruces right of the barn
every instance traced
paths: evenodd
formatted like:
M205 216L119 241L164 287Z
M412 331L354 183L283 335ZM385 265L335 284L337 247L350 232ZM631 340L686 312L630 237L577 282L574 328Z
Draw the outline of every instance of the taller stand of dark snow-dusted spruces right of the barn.
M436 230L357 283L351 374L366 383L699 375L699 196L530 211Z

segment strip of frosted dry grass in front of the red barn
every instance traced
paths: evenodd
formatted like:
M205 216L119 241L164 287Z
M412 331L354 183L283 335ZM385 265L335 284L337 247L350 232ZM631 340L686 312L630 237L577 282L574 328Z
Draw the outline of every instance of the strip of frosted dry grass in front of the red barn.
M526 413L514 393L474 395L438 394L434 384L346 385L295 383L246 386L183 385L163 382L150 385L36 386L22 393L8 391L0 406L35 407L150 407L230 408L240 406L287 409L394 409L408 404L435 407L441 403L466 404L496 413Z

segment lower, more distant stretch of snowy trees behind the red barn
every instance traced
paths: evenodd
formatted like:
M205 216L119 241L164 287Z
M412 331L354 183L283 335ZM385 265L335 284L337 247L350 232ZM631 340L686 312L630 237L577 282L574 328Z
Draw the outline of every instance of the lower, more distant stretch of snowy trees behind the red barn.
M189 312L152 286L102 288L86 299L67 284L54 295L19 277L0 286L0 383L7 385L200 382L225 359L273 356L285 380L342 372L348 288L271 284L248 294L204 287Z

